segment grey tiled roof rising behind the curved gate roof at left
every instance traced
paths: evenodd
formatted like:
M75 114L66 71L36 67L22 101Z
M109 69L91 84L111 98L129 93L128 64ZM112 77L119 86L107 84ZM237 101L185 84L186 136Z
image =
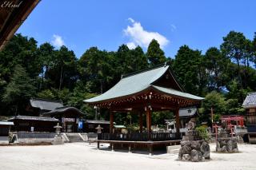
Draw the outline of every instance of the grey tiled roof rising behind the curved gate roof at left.
M54 110L63 107L62 101L51 101L46 99L30 99L30 105L42 110Z

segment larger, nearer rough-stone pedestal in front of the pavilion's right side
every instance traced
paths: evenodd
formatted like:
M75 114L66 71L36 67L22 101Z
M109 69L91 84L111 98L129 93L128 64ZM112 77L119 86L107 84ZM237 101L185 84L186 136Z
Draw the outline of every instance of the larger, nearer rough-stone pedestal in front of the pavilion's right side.
M204 140L183 140L181 141L178 159L192 162L210 159L210 146Z

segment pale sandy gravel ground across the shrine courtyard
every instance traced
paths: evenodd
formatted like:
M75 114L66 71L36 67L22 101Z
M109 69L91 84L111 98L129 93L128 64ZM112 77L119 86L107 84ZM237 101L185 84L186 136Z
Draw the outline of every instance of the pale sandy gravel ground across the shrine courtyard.
M178 170L255 170L256 145L238 144L238 153L215 153L210 144L210 160L186 162L177 160L178 154L158 154L149 156L146 152L111 152L95 144L72 143L41 146L0 146L0 169L178 169Z

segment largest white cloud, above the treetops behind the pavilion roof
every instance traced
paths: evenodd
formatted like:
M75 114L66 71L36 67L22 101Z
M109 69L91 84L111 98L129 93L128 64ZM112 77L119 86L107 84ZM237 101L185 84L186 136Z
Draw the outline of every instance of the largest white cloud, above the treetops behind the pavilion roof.
M128 20L132 23L132 25L127 26L127 28L123 31L126 36L130 38L131 42L127 43L127 45L130 45L130 47L140 45L147 48L152 39L157 40L161 48L168 44L169 40L163 35L159 34L158 32L144 30L141 23L135 22L133 18L128 18Z

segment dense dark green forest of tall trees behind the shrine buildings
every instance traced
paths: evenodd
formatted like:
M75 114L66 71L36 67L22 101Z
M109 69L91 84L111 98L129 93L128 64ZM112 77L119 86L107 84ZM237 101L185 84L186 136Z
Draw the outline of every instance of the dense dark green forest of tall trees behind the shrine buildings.
M61 100L93 119L94 109L83 100L106 92L122 74L167 61L187 93L206 97L199 121L210 121L211 107L218 121L223 114L244 114L242 101L248 92L256 91L255 56L256 34L250 40L235 31L206 53L182 45L174 57L165 56L156 40L150 42L146 53L140 46L129 49L120 45L110 52L91 47L76 57L64 45L60 49L48 42L38 46L34 38L16 34L0 52L0 115L26 115L30 97L40 97ZM106 111L101 112L102 119L106 118ZM153 123L160 123L165 114L159 115L154 114ZM131 115L115 121L126 121L127 117Z

